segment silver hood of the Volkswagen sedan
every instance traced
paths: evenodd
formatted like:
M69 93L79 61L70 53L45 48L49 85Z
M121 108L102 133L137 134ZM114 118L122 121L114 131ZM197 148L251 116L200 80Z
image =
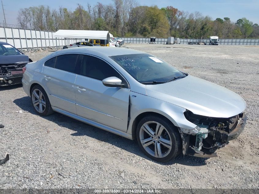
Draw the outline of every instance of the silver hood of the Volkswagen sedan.
M146 85L146 90L150 97L197 115L229 118L246 108L246 102L238 94L191 75L164 84Z

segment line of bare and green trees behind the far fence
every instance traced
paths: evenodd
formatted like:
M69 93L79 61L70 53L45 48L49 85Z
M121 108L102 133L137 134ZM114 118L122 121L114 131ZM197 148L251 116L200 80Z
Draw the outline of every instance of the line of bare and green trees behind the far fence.
M64 7L52 9L36 6L20 9L17 21L22 28L57 31L109 30L114 36L179 38L259 38L259 26L245 17L236 22L230 18L212 20L200 12L189 13L173 6L139 6L135 0L113 0L85 7L77 4L74 11Z

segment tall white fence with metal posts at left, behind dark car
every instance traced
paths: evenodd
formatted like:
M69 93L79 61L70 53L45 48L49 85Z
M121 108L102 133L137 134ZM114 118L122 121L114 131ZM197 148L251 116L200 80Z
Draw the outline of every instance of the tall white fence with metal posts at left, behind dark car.
M59 47L78 41L77 39L55 39L54 34L55 32L45 30L0 27L0 41L20 49Z

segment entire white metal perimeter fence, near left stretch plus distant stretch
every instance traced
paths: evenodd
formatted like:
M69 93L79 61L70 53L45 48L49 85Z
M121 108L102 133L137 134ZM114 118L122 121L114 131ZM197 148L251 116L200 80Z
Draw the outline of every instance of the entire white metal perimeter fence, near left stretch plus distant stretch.
M10 27L0 27L0 41L7 42L16 48L44 48L62 47L80 41L80 39L54 38L55 32L46 30L19 29ZM125 43L149 44L150 38L122 38ZM156 44L166 44L167 38L156 38ZM180 39L180 44L188 42L205 42L209 44L209 39ZM219 39L219 44L225 45L259 45L259 39Z

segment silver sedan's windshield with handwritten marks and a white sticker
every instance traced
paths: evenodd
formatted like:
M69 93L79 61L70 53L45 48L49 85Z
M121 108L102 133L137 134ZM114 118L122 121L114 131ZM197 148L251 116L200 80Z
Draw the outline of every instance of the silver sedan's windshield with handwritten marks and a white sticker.
M140 83L169 82L186 75L172 65L149 54L110 56Z

